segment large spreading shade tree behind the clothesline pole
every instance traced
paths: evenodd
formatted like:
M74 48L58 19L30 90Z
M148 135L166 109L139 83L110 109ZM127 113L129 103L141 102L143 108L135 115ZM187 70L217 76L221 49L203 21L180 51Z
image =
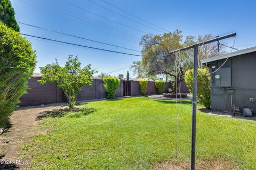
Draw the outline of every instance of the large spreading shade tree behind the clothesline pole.
M187 36L183 39L180 30L164 33L164 35L145 35L142 36L140 45L142 46L142 60L133 62L131 69L138 77L148 75L165 74L175 84L184 79L184 74L188 69L193 68L193 49L185 50L170 55L175 49L193 45L197 42L206 41L213 38L212 35ZM221 53L225 48L221 48ZM201 60L217 55L217 44L207 44L199 47L198 64L201 66ZM174 90L175 90L174 86Z

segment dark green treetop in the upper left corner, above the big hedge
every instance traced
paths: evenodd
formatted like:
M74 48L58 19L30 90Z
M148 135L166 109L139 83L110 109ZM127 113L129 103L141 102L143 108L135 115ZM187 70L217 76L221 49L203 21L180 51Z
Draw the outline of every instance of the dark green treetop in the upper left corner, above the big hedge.
M7 27L12 28L15 31L20 31L20 27L15 20L15 12L13 10L10 0L0 1L0 20L7 25Z

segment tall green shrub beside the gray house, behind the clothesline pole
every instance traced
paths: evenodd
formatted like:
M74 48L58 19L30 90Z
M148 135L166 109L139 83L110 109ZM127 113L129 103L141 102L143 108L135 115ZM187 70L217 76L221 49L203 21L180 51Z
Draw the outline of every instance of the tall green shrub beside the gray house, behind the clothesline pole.
M210 77L208 76L208 69L198 69L197 75L197 99L198 102L204 105L206 108L210 108ZM193 90L193 69L186 71L185 82L189 91Z

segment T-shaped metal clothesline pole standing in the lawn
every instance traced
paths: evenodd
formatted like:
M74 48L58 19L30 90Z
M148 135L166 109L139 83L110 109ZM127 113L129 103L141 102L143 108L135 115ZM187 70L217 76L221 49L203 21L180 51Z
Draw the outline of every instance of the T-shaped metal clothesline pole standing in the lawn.
M194 72L193 72L193 100L192 100L192 127L191 127L191 157L190 157L190 169L195 170L195 157L196 157L196 104L197 104L197 67L198 67L198 47L201 45L213 43L215 41L219 41L222 39L235 37L236 32L230 33L225 36L216 37L211 40L207 40L201 43L196 43L191 46L187 46L184 48L180 48L177 50L173 50L169 53L169 55L181 52L183 50L187 50L190 48L194 48Z

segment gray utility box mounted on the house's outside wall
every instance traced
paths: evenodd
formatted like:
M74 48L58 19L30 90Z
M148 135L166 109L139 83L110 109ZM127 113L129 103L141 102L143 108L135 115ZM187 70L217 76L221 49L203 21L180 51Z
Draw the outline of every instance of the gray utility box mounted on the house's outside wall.
M230 67L220 68L215 72L215 87L231 86L231 69Z

